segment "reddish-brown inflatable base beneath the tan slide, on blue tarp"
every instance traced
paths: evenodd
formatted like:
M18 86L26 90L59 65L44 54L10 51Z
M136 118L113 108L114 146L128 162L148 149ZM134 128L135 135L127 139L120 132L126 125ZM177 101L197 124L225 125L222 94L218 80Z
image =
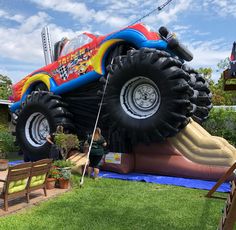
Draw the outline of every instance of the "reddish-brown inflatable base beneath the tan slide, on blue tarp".
M141 173L217 180L228 168L194 163L171 148L167 141L150 146L139 145L135 150L135 171Z

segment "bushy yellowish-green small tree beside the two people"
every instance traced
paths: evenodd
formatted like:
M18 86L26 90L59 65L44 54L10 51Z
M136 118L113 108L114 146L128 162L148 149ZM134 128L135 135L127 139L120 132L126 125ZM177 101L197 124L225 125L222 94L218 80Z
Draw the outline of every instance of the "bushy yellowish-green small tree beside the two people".
M55 143L60 148L63 160L66 160L70 150L79 148L79 139L74 134L57 133L55 135Z

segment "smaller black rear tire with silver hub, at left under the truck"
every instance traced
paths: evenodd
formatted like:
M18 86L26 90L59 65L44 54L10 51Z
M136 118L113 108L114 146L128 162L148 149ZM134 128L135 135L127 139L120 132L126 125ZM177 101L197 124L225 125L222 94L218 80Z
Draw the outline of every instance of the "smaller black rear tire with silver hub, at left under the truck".
M16 120L16 139L30 161L49 157L51 145L46 136L62 125L71 130L71 113L60 97L46 91L34 91L21 104Z

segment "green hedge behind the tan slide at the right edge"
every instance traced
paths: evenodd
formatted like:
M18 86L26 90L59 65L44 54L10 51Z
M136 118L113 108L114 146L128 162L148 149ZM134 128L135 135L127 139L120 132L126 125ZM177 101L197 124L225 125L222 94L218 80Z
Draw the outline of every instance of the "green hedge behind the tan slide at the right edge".
M203 127L212 135L224 137L236 146L236 112L228 109L212 109Z

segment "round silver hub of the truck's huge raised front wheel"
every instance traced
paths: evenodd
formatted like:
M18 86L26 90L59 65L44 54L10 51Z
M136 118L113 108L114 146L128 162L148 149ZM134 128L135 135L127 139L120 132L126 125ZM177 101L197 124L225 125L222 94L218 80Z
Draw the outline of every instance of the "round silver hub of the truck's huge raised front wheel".
M160 91L146 77L135 77L121 89L120 103L126 114L136 119L145 119L157 112L160 106Z

